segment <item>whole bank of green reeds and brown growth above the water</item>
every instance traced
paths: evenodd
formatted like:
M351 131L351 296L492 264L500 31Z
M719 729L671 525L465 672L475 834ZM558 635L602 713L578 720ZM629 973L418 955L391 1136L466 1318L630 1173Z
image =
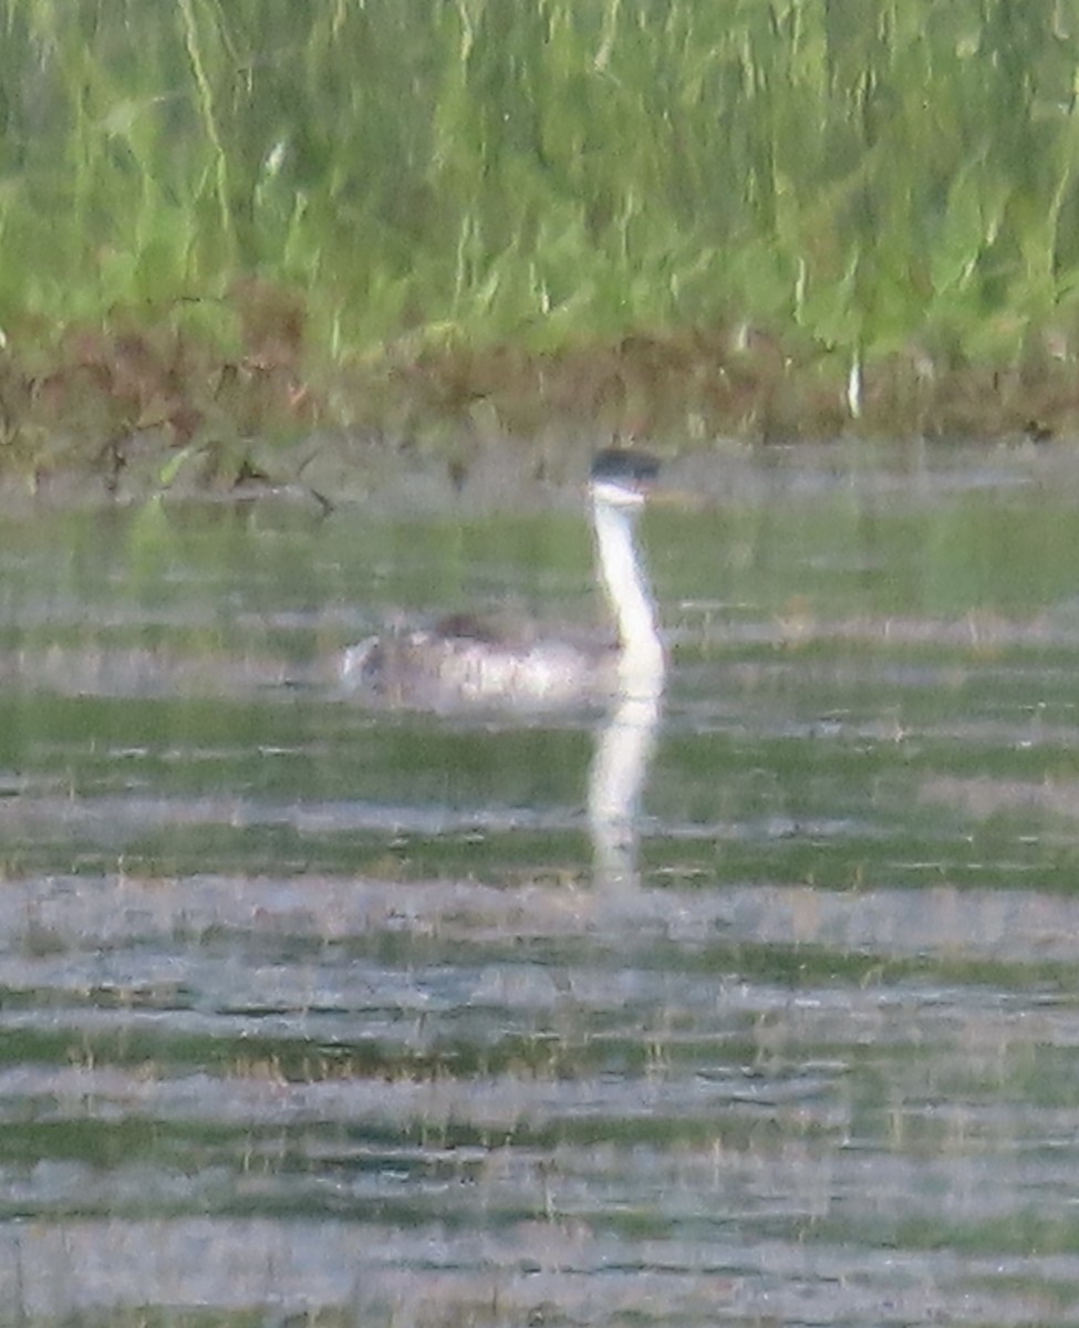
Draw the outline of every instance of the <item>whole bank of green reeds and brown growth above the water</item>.
M1071 5L9 0L0 31L0 475L32 489L278 478L267 440L287 477L315 433L1079 433Z

